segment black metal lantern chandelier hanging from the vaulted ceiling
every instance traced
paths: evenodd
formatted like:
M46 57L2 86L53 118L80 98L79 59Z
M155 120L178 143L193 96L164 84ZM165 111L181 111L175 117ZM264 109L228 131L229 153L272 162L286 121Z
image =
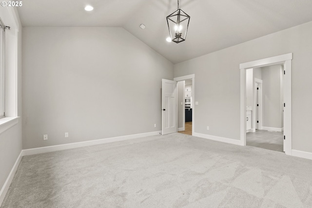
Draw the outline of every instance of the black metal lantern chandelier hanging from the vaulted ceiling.
M177 0L177 10L167 17L170 38L173 42L179 43L185 40L190 18L179 9L179 0Z

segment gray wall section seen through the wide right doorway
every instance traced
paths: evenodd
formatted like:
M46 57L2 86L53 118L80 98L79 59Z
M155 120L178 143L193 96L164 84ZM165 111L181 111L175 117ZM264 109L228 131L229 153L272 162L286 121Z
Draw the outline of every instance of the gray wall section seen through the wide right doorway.
M262 126L282 128L281 66L262 67Z

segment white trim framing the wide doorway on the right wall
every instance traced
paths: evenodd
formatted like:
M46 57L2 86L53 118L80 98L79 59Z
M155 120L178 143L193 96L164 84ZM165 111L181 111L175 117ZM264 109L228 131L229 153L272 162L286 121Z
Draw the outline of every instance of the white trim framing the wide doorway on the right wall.
M292 53L239 64L240 69L240 143L246 146L246 69L284 64L284 150L292 155Z

